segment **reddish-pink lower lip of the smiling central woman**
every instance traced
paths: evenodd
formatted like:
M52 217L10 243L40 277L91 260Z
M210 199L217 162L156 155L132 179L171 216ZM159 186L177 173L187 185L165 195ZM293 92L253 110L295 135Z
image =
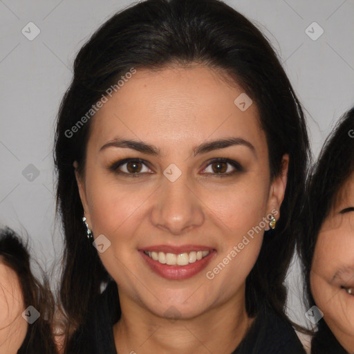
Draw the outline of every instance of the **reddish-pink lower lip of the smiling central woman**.
M194 277L194 275L201 272L209 263L209 261L216 254L215 250L212 250L207 256L195 261L194 263L189 263L187 265L167 265L162 264L158 261L154 261L143 251L139 251L142 257L145 259L151 270L164 277L166 279L182 280Z

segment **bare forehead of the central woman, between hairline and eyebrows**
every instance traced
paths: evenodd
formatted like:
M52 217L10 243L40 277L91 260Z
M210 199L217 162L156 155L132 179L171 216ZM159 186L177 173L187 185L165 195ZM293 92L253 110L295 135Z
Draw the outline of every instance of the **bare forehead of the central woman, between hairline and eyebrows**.
M266 149L256 104L241 111L234 101L248 96L231 82L207 66L137 69L96 113L88 143L97 150L119 135L163 150L232 135Z

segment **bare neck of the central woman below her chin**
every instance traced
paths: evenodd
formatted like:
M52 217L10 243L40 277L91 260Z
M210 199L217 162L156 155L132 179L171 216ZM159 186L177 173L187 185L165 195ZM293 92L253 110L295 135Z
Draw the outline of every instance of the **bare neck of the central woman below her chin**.
M120 293L122 315L113 326L120 353L231 353L239 345L252 318L245 299L230 299L192 319L157 317Z

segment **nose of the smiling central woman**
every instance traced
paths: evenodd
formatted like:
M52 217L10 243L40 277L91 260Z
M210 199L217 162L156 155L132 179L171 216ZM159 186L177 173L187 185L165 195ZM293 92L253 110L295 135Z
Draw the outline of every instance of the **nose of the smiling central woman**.
M151 212L151 222L165 232L180 235L203 225L203 203L187 174L171 182L162 178L158 197Z

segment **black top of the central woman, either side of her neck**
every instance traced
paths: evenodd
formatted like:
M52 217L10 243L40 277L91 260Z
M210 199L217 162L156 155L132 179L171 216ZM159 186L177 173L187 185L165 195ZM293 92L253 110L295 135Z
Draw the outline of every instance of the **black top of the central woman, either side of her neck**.
M120 318L118 288L108 284L91 307L91 317L73 335L71 354L118 354L115 350L113 324ZM230 354L305 354L295 330L264 306L254 319L248 334ZM218 354L218 353L215 353Z

